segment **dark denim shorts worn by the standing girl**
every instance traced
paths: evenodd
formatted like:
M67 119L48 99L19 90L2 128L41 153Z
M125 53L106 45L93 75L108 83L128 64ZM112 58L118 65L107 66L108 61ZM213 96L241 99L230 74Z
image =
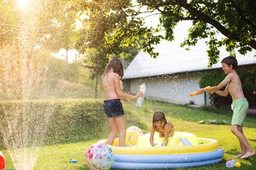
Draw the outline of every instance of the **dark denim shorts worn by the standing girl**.
M106 113L107 118L117 118L125 115L120 99L104 101L104 112Z

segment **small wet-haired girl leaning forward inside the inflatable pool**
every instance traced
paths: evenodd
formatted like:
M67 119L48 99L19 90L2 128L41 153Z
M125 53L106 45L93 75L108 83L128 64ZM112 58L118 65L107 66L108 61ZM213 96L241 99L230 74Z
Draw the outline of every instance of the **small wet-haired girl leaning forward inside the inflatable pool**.
M154 147L154 133L157 131L159 133L159 137L164 137L164 146L168 143L168 138L174 135L174 127L170 121L166 121L165 115L162 111L157 111L153 115L153 126L151 127L151 134L150 134L150 144Z

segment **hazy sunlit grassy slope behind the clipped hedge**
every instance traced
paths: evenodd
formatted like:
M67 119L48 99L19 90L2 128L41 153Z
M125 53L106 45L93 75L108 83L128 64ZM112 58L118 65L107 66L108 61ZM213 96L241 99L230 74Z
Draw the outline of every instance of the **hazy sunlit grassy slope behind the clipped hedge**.
M16 64L22 61L15 54L12 58L0 58L0 75L4 75L0 77L0 100L94 97L95 82L88 79L90 69L79 63L68 64L49 52L38 52L29 61L29 68ZM102 94L99 86L99 98Z

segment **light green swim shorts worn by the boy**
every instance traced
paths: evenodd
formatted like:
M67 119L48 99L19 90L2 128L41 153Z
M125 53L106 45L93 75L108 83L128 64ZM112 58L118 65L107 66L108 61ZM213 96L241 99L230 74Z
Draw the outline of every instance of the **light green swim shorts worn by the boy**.
M242 126L247 114L249 104L246 98L239 98L233 101L233 117L231 124Z

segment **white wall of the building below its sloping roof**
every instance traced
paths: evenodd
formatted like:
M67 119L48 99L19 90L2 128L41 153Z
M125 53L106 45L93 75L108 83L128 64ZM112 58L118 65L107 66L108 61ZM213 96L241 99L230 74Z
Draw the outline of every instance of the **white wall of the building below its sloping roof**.
M142 78L131 81L131 94L136 94L142 83L147 86L145 98L169 101L176 104L188 104L194 101L196 105L204 105L204 93L202 95L188 97L199 89L201 73L184 73L180 75L164 75L154 78ZM210 95L207 93L207 105L210 104Z

